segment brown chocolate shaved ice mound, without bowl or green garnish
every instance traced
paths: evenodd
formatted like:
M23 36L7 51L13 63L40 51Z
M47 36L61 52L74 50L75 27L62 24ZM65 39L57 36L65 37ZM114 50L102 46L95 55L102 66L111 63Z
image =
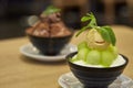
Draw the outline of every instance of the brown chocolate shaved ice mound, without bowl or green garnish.
M40 15L40 20L34 24L34 26L28 29L27 33L40 37L61 37L71 35L71 31L61 20L60 12L51 14L42 13Z

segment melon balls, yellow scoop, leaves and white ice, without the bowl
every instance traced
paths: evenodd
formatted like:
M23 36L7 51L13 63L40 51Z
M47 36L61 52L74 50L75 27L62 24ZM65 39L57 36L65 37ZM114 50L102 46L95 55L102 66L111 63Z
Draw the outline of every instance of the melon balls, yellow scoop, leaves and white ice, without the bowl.
M76 36L86 32L85 41L78 44L78 54L71 62L92 67L113 67L125 63L124 58L119 55L115 46L115 35L111 26L99 26L93 13L88 13L81 19L82 22L90 23L82 28Z

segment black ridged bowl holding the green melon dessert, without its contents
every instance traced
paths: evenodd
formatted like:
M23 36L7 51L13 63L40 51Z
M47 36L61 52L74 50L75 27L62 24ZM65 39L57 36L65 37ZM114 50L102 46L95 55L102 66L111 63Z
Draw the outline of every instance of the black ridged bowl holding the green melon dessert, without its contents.
M71 72L85 88L108 88L123 73L129 63L127 57L121 55L125 59L125 63L121 66L108 68L85 67L70 62L75 54L76 52L69 54L66 61Z

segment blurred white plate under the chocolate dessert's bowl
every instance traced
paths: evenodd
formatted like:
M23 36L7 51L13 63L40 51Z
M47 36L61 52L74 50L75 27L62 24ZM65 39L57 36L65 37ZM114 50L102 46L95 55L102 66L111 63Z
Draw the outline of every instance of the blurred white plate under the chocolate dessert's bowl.
M47 56L41 54L32 44L25 44L20 47L20 52L28 57L33 59L42 61L42 62L55 62L62 61L69 53L75 52L76 46L73 44L66 44L59 55L55 56Z

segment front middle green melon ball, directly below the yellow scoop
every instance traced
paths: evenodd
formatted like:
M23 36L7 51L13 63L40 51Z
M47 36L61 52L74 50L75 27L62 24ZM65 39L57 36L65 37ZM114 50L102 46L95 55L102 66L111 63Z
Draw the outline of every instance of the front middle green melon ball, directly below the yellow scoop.
M86 63L99 65L101 63L101 53L96 50L90 51L86 55Z

